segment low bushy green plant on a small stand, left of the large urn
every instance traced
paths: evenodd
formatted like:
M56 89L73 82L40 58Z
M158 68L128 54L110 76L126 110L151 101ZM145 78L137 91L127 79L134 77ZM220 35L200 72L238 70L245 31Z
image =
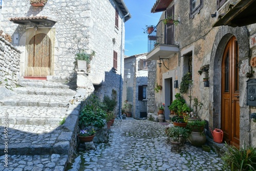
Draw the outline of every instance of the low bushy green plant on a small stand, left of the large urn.
M189 130L185 129L184 127L180 126L172 126L166 129L166 135L168 140L171 138L172 141L181 141L182 139L187 139L189 136Z

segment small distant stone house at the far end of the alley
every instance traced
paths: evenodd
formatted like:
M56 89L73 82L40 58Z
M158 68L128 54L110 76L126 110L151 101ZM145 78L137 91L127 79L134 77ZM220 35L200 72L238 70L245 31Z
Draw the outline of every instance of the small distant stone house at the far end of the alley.
M144 118L147 114L147 65L146 53L124 58L123 104L132 104L132 117ZM123 107L124 105L122 105Z

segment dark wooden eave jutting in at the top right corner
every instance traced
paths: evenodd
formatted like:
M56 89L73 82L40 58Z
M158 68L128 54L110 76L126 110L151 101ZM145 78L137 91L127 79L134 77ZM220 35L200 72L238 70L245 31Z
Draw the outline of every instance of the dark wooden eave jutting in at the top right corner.
M228 12L219 14L218 21L212 26L241 27L256 23L256 0L240 0L229 5Z

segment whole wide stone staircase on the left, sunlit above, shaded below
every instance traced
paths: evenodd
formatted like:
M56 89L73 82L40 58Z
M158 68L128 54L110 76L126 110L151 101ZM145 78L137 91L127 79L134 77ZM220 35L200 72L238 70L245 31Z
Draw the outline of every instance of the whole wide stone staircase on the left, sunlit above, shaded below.
M0 170L65 170L76 144L76 91L44 80L20 86L0 98Z

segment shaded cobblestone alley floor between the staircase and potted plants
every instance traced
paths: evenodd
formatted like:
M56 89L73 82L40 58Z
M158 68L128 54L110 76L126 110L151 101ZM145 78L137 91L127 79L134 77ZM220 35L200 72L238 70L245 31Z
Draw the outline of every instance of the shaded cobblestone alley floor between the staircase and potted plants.
M115 120L109 142L95 144L96 150L80 149L74 164L68 167L84 171L222 170L222 160L216 153L204 152L189 142L181 153L171 152L165 127L148 120Z

